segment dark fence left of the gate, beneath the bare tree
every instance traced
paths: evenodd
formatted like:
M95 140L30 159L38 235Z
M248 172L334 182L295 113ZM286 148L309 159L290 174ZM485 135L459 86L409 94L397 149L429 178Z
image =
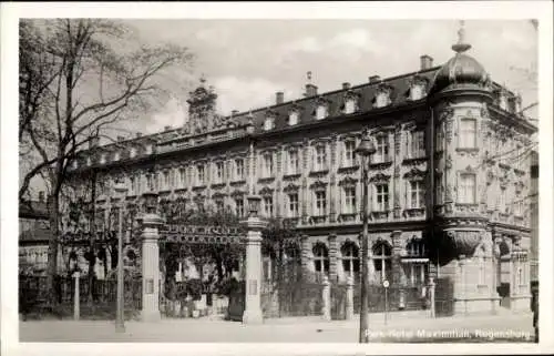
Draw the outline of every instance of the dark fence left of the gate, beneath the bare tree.
M19 308L23 315L43 314L47 312L59 317L72 315L75 279L57 276L54 278L54 295L58 302L57 311L53 306L45 306L51 287L45 276L19 276ZM83 318L113 318L117 297L117 281L93 279L92 301L89 301L90 284L86 276L79 281L79 299L81 302L81 316ZM90 303L89 303L90 302ZM127 317L136 316L142 308L142 281L124 281L124 308Z

